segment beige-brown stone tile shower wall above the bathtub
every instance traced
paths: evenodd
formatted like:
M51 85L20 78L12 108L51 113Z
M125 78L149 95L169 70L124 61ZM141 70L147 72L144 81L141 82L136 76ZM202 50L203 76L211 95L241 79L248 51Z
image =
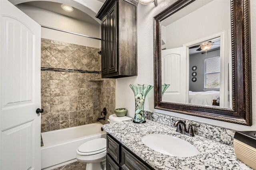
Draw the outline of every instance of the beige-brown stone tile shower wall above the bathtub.
M42 39L41 102L44 113L41 132L95 123L104 107L108 115L114 113L115 80L100 80L98 51ZM102 95L107 89L112 89L112 93Z

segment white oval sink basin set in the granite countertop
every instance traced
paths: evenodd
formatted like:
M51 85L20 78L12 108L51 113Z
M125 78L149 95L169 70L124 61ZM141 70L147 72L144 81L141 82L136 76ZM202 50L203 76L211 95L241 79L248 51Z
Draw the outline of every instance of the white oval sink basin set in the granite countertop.
M199 154L194 145L170 135L149 134L141 140L147 147L170 156L190 157Z

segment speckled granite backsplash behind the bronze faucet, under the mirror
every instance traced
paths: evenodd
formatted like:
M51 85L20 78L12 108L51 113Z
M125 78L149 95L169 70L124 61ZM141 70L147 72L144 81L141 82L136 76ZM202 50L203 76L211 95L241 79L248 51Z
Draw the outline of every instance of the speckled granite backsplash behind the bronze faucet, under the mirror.
M179 117L173 117L169 115L163 115L160 113L154 113L152 111L144 111L146 119L156 121L163 125L168 125L170 127L174 127L174 122L172 119L178 120L186 120L186 128L188 129L189 123L196 123L199 124L200 127L193 127L194 134L199 135L208 139L212 139L214 141L224 143L226 145L233 145L233 139L235 131L231 129L226 129L224 127L217 127L213 125L208 125L196 121L191 121L187 119L180 119Z

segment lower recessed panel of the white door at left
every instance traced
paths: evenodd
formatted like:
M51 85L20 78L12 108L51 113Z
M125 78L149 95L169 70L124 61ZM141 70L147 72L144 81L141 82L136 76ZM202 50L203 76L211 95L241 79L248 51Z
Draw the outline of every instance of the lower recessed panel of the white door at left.
M2 131L2 145L6 146L1 150L2 155L4 155L1 160L4 169L28 170L33 168L35 159L33 158L35 148L32 147L32 144L35 143L35 133L32 132L35 129L34 122L30 121ZM13 160L17 163L14 163Z

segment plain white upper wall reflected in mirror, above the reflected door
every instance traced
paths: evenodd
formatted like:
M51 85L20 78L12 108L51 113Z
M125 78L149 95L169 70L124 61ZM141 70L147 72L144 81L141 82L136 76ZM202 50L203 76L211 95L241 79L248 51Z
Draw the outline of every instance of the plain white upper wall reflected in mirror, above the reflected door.
M231 28L230 2L212 1L166 26L166 49L182 47L183 44ZM183 10L183 9L182 9Z

